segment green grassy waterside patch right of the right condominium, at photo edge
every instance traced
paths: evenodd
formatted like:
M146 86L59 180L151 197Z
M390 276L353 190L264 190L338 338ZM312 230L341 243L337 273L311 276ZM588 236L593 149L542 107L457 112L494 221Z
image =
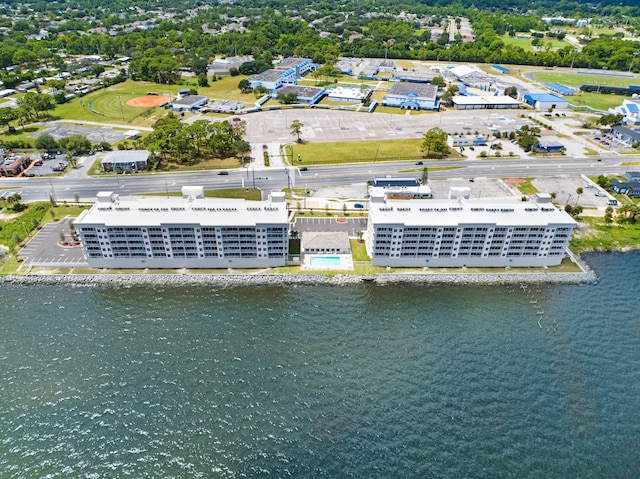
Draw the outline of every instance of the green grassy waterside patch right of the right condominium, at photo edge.
M640 225L618 224L607 225L603 218L584 217L582 223L589 225L586 234L574 234L571 248L578 252L612 251L621 248L637 248L640 245Z

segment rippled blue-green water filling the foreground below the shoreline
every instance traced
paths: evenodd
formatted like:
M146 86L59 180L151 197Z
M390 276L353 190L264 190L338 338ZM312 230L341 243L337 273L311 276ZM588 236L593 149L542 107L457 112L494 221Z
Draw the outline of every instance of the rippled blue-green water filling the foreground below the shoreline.
M0 288L0 477L627 478L640 253L597 285Z

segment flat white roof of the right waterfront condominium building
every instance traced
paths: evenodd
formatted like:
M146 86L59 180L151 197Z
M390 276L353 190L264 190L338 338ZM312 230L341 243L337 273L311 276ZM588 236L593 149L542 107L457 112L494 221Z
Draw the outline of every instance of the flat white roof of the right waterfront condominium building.
M398 200L370 202L369 221L407 226L575 226L576 222L553 204L514 200Z

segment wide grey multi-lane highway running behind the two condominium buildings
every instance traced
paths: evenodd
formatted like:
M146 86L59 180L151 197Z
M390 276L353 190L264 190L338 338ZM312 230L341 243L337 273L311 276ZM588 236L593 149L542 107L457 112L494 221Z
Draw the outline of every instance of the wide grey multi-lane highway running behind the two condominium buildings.
M205 189L256 187L265 192L286 187L319 187L364 183L384 175L420 176L420 168L429 168L429 179L467 177L541 177L558 175L621 174L629 167L621 161L638 161L640 157L626 156L602 158L536 158L536 159L455 159L414 162L384 162L330 166L309 166L308 171L298 168L264 168L260 170L229 170L228 175L218 172L156 173L118 175L91 178L81 175L47 178L2 178L0 195L20 193L23 201L45 201L53 195L57 201L73 202L76 195L82 201L95 200L99 191L114 191L121 195L157 192L176 192L185 185L201 185ZM455 167L455 168L454 168ZM452 168L438 170L438 168Z

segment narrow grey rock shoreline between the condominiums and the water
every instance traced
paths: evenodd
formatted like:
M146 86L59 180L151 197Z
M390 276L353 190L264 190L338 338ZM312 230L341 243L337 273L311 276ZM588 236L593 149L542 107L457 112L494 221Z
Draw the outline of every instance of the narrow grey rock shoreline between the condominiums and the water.
M584 266L583 266L584 268ZM353 285L392 284L588 284L597 282L588 267L580 273L389 273L372 276L337 274L27 274L4 276L3 283L19 285Z

